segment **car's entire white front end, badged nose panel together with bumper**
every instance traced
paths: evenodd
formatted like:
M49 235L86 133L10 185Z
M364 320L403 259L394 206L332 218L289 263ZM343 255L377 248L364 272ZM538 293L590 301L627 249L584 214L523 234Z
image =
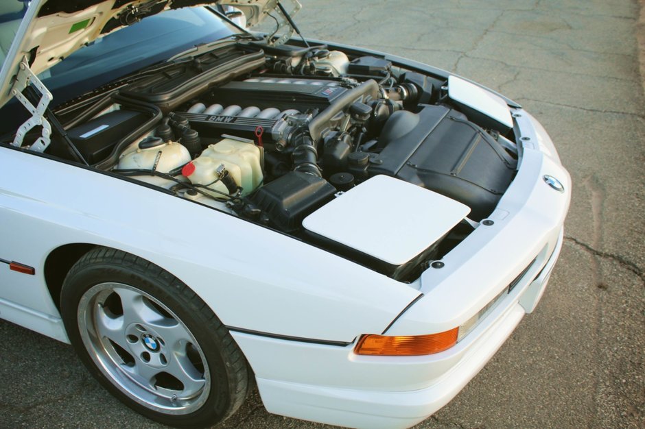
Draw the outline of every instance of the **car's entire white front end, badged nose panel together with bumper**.
M443 269L428 269L411 285L424 296L386 334L443 332L465 323L511 283L512 291L454 347L427 356L358 356L354 343L339 347L232 332L270 413L356 428L410 427L457 395L532 312L559 256L571 186L541 125L521 109L513 113L524 154L489 217L494 225L477 228L445 256ZM558 177L565 193L549 188L544 175ZM357 335L362 333L380 334Z

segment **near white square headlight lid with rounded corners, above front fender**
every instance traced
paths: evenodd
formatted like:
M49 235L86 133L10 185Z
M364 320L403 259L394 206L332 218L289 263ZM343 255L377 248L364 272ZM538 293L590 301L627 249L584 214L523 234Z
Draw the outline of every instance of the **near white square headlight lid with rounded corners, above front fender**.
M441 194L377 175L307 216L303 226L401 265L430 247L469 212L464 204Z

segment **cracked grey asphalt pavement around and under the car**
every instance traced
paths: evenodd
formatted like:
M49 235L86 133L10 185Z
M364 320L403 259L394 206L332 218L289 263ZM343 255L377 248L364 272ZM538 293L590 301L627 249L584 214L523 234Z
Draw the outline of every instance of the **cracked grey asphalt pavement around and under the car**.
M541 304L480 374L417 428L644 428L639 2L302 3L296 22L307 37L413 58L521 103L548 130L572 175L565 243ZM0 380L1 427L160 427L110 397L70 346L3 321ZM270 415L255 392L222 428L329 426Z

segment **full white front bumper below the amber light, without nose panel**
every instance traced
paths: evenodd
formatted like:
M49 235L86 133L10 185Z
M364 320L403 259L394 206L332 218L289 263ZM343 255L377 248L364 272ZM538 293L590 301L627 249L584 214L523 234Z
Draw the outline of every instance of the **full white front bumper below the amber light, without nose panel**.
M233 332L233 337L251 362L271 361L253 366L270 413L352 428L409 428L455 397L511 336L527 310L535 308L561 245L562 234L539 277L525 282L520 290L514 289L469 334L468 341L439 354L375 358L354 355L353 345L331 347L238 332ZM278 378L273 378L275 366L281 367ZM328 371L336 376L327 378ZM363 384L362 389L330 386L339 373L347 385ZM405 389L401 380L415 377L432 382L422 389L384 390L383 384L388 383ZM299 378L314 384L298 382Z

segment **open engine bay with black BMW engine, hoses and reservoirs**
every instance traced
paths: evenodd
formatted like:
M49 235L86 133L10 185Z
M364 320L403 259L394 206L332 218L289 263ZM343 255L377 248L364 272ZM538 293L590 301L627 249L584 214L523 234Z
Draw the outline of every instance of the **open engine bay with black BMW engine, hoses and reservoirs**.
M409 281L493 212L517 170L512 121L453 96L471 84L451 79L325 45L234 42L59 106L67 136L54 134L46 153ZM316 210L380 175L457 201L469 215L394 268L303 227ZM381 198L406 204L387 189Z

